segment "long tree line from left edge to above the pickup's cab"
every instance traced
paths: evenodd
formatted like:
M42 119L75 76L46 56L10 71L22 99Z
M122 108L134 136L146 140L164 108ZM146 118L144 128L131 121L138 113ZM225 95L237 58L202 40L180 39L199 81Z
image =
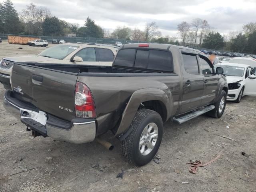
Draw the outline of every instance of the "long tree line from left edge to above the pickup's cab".
M0 3L0 33L34 36L62 36L75 34L82 37L117 38L124 40L151 41L179 44L178 38L161 36L156 22L149 22L144 30L118 26L113 32L95 24L87 17L84 26L69 23L53 16L50 9L30 3L18 14L11 0Z

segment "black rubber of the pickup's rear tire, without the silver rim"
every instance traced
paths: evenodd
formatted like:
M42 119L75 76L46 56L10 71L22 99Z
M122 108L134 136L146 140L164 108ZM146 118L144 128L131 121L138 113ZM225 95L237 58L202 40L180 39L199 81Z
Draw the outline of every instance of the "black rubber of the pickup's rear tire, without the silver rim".
M158 137L152 151L147 155L142 155L139 148L140 137L142 136L144 128L150 123L156 124ZM130 163L136 166L143 166L154 158L160 147L164 129L162 118L160 114L153 110L140 109L137 111L130 127L132 127L132 132L121 143L122 154ZM154 141L152 140L152 142Z

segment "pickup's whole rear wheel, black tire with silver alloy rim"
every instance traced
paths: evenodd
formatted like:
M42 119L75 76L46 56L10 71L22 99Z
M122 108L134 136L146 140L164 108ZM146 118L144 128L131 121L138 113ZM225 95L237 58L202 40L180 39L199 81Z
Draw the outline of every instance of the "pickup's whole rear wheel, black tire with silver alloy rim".
M160 147L163 122L160 114L153 110L138 110L131 125L132 132L122 141L123 156L136 166L150 162Z

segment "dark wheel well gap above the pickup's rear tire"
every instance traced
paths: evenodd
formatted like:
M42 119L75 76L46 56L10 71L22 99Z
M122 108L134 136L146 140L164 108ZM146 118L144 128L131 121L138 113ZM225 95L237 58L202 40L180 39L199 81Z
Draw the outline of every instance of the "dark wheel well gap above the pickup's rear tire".
M162 101L159 101L159 100L145 101L140 104L140 107L138 109L141 109L141 108L150 109L155 112L158 112L162 117L163 122L166 121L167 110Z

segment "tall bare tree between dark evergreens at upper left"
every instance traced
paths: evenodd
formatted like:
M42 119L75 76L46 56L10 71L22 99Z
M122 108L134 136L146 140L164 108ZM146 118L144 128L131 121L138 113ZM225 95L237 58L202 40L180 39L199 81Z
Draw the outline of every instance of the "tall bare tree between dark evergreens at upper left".
M42 23L46 17L51 16L50 9L46 7L37 7L30 3L26 9L22 10L21 18L28 24L29 32L34 35L42 33Z

